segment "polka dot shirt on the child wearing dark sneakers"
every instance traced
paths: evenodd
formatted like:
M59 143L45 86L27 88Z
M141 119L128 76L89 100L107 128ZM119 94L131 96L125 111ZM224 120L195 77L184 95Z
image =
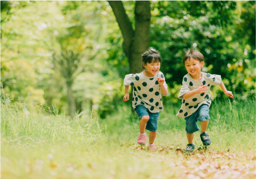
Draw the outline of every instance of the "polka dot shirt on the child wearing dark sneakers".
M178 111L178 114L176 116L188 117L193 114L202 104L206 104L210 107L210 87L214 85L220 85L221 83L222 78L220 75L217 74L202 72L201 81L194 80L193 78L191 78L189 73L186 74L183 77L182 88L180 89L180 93L178 94L178 98L182 99L182 108L180 108L180 111ZM186 92L197 89L199 86L201 86L201 84L203 86L206 84L207 86L209 86L209 89L207 89L205 93L196 93L195 95L187 98L186 100L183 99L182 96L185 95Z

